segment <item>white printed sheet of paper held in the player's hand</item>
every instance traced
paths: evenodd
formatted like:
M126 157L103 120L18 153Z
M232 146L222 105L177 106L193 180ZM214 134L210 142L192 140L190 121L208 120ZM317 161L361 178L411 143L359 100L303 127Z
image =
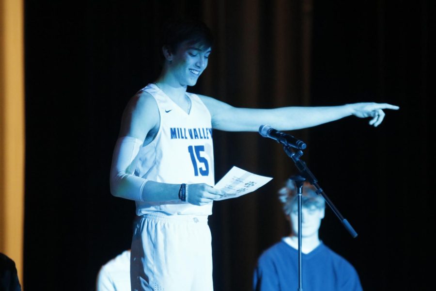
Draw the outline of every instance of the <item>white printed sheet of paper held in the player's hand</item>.
M233 168L215 184L215 188L225 193L221 198L216 200L235 198L253 192L271 181L271 179L272 178L256 175L233 166Z

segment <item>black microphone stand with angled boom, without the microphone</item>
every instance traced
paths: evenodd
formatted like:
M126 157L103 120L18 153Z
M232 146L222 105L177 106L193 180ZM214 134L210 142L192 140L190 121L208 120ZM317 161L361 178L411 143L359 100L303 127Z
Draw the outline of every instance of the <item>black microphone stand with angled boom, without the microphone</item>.
M354 230L354 228L350 225L350 223L342 216L342 214L339 212L339 210L334 206L333 202L328 198L327 194L323 191L323 189L318 185L318 180L313 176L312 172L307 167L306 163L300 160L300 157L303 155L303 151L298 149L295 151L291 146L283 146L284 151L290 157L298 171L300 172L301 176L293 176L291 177L291 180L294 180L296 183L297 188L297 198L298 198L298 291L303 291L303 284L302 284L302 255L301 255L301 198L302 198L302 189L303 189L303 183L305 180L308 180L315 188L316 193L319 195L321 194L324 199L326 200L327 205L330 207L331 210L336 214L336 216L339 218L345 229L350 233L350 235L353 238L356 238L358 236L357 232Z

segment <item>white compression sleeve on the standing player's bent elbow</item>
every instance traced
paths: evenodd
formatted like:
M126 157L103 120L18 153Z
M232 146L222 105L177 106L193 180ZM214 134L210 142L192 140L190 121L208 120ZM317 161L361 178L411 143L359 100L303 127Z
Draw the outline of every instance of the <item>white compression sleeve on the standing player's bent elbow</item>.
M110 193L125 199L143 201L142 191L147 179L133 175L132 162L138 155L142 141L137 138L120 137L113 151L110 167Z

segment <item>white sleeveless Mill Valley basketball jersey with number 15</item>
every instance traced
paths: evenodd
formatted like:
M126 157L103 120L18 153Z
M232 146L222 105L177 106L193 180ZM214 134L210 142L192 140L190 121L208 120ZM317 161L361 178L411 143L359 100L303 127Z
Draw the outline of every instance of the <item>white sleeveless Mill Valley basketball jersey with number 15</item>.
M135 175L170 184L215 185L212 123L209 110L195 94L187 93L191 110L186 113L155 84L141 89L153 96L160 114L155 139L142 146L136 158ZM136 201L138 215L153 211L168 214L212 214L212 203L196 206L182 201Z

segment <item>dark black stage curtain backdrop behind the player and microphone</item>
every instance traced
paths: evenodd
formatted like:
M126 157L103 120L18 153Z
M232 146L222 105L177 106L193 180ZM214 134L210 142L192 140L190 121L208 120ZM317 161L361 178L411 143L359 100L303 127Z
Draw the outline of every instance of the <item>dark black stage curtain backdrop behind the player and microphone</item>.
M26 0L26 290L93 290L100 266L130 247L135 207L109 193L112 149L126 102L157 77L172 16L203 19L217 39L191 92L252 108L401 107L378 128L346 117L291 134L359 234L326 210L321 238L364 290L432 290L433 12L429 0ZM296 169L257 133L214 141L217 181L233 165L274 177L210 217L215 290L250 290L257 257L289 232L276 192Z

